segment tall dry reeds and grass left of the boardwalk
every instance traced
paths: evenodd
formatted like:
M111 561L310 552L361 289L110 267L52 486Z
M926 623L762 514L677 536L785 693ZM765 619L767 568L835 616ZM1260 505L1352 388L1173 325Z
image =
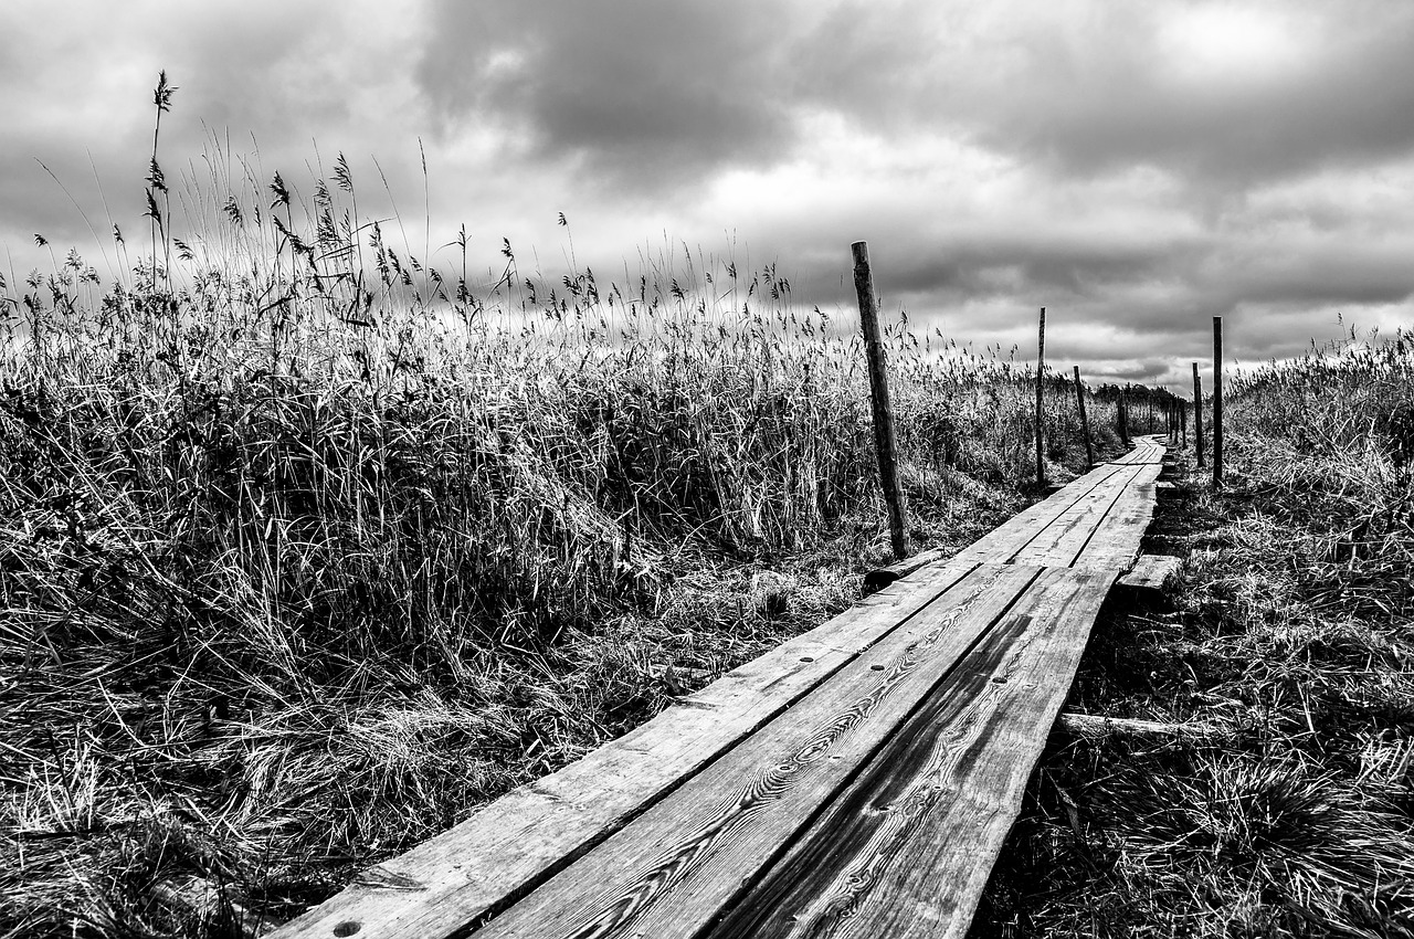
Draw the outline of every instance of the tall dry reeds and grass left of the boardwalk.
M773 267L438 270L342 154L307 201L157 157L129 273L0 279L0 938L287 918L885 559L858 339ZM1034 495L1027 371L888 345L915 546L963 544Z

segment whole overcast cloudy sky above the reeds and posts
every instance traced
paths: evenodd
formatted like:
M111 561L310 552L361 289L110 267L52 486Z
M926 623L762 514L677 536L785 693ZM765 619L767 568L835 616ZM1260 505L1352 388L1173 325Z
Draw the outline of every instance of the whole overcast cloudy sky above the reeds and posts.
M1414 325L1407 0L4 0L7 277L146 232L160 69L170 178L344 153L447 267L687 250L851 317L867 240L887 315L1025 358L1044 305L1052 365L1174 386L1215 315L1247 365Z

